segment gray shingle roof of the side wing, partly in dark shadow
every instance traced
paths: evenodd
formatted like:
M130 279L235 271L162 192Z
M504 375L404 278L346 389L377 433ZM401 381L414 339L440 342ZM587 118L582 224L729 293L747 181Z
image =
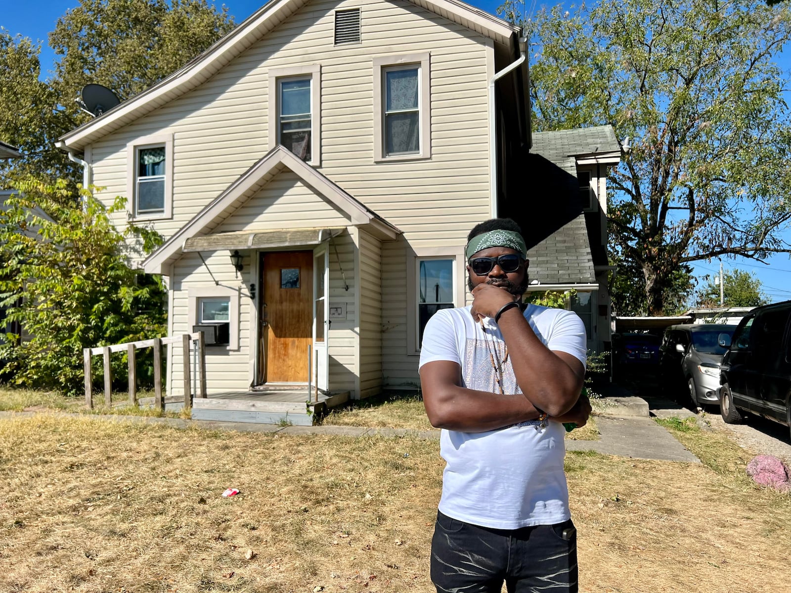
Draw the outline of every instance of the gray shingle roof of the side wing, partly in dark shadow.
M611 126L533 134L529 212L514 216L528 241L531 280L542 285L596 283L575 157L620 149Z

